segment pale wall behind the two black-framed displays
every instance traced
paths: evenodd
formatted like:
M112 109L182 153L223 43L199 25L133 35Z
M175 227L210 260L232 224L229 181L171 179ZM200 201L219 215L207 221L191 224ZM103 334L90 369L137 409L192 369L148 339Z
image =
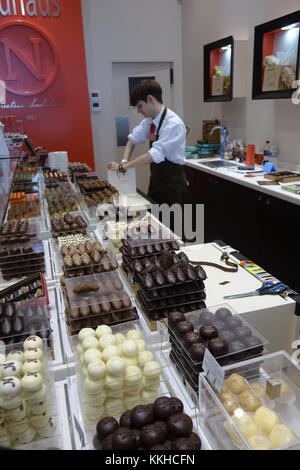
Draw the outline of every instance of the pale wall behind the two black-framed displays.
M220 118L229 127L231 139L246 139L260 149L271 139L279 159L300 169L300 105L289 99L251 99L255 26L296 10L299 0L183 0L184 119L193 127L191 141L202 135L203 119ZM247 96L222 104L204 103L203 45L231 34L248 39Z

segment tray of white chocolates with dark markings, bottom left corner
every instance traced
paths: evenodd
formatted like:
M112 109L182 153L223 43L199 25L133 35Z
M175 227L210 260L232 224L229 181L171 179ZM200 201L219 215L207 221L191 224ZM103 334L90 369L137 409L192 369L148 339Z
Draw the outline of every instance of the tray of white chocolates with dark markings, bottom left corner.
M59 422L47 345L37 336L23 341L6 345L0 354L0 445L25 450L45 440L47 448Z

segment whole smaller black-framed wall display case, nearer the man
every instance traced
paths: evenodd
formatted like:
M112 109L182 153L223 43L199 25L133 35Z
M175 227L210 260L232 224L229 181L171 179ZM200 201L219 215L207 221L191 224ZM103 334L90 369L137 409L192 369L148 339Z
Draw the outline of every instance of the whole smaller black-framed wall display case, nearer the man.
M204 46L204 101L231 101L233 96L232 36Z

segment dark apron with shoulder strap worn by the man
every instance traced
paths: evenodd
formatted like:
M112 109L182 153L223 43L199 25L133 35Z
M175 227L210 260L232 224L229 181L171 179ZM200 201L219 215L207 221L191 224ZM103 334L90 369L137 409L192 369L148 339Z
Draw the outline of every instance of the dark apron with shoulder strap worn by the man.
M159 139L159 131L166 114L167 108L165 107L155 135L156 141ZM150 141L150 148L152 143ZM150 171L148 196L151 199L158 204L166 203L172 205L174 203L184 203L184 191L187 180L183 165L178 165L165 159L161 163L151 163Z

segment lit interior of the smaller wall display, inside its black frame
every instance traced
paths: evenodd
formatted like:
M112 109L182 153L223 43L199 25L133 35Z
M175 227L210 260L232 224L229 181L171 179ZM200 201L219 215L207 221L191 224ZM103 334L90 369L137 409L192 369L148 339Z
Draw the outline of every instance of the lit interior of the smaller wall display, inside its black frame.
M210 94L230 95L231 45L210 51Z

